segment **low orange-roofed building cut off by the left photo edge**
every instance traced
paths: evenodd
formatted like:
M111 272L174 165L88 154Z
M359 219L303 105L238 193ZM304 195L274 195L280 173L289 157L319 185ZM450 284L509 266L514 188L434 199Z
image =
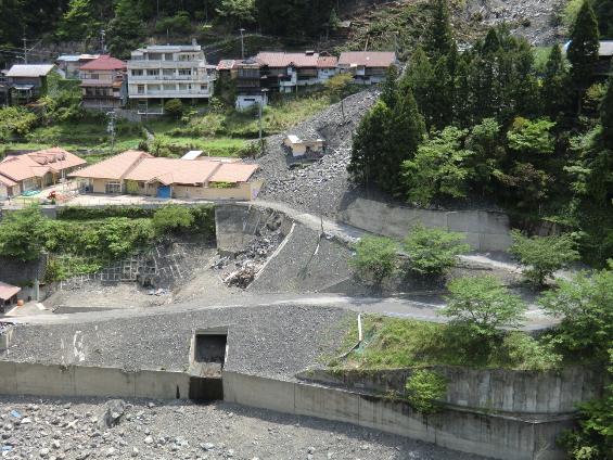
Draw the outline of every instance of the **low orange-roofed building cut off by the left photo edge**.
M0 199L55 184L86 163L60 148L9 155L0 162Z

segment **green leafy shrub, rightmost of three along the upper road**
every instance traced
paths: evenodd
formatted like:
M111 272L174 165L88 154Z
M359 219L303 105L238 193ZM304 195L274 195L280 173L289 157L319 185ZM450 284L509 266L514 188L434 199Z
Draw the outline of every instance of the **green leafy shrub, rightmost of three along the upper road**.
M566 267L579 258L573 235L524 237L514 230L511 232L513 245L509 250L524 267L524 278L534 286L545 284L547 278L557 270Z

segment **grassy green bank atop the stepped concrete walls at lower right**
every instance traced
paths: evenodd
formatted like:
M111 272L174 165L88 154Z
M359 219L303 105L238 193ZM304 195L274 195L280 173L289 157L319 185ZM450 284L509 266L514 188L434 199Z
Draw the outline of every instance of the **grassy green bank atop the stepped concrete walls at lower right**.
M454 324L375 315L362 315L362 344L346 358L329 360L332 369L376 370L439 365L544 371L557 369L564 362L549 337L533 338L519 331L499 331L493 336L476 337ZM357 324L352 323L346 333L345 349L353 346L357 337Z

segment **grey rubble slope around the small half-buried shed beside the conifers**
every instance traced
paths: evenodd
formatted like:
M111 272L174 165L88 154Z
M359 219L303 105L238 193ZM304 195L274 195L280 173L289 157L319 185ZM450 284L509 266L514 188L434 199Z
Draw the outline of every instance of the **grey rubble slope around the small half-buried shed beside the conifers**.
M260 200L288 203L294 208L333 216L348 194L356 193L347 181L352 139L362 116L379 97L371 88L330 106L290 131L267 139L267 154L257 158L265 187ZM344 116L343 116L344 114ZM297 164L283 141L288 135L318 137L325 154L314 163Z

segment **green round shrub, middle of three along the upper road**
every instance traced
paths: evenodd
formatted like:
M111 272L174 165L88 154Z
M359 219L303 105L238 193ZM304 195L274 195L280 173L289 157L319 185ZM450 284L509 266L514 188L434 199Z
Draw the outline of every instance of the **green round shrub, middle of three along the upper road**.
M421 225L413 227L403 242L403 250L409 257L409 270L421 274L443 274L456 266L458 255L470 251L463 241L460 233Z

